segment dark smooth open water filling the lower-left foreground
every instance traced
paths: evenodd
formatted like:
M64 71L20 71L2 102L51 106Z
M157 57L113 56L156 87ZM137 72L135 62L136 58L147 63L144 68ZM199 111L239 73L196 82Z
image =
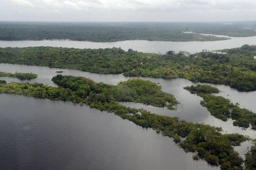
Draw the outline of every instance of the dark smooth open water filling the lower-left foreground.
M0 169L219 169L168 137L70 102L0 94Z

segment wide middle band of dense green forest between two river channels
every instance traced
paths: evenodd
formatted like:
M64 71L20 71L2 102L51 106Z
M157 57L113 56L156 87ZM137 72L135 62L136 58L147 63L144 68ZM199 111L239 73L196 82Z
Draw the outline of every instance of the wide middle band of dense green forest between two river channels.
M189 57L169 51L142 53L121 48L75 49L61 47L0 48L0 63L78 69L124 76L185 78L225 84L240 91L256 90L255 46L244 45L224 53L201 52Z

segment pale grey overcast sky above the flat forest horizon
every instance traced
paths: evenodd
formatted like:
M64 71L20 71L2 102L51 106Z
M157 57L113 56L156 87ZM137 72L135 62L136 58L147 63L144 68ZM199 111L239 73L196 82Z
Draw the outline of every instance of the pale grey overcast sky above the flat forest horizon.
M0 0L0 20L256 20L256 0Z

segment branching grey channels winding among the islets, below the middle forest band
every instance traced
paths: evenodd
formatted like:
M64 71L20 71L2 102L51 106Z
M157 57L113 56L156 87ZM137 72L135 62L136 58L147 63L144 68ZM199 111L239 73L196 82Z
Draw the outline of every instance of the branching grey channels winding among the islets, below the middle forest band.
M33 72L38 74L38 78L32 80L18 80L15 78L0 78L5 79L7 82L17 81L17 82L38 82L49 85L55 85L51 78L58 73L56 70L64 71L64 75L74 75L74 76L85 76L86 78L90 78L96 82L103 82L108 84L116 85L119 81L125 81L130 78L123 76L122 74L95 74L88 72L81 72L79 70L70 70L70 69L56 69L56 68L48 68L48 67L38 67L38 66L28 66L28 65L17 65L17 64L0 64L0 72L23 72L29 73ZM198 83L192 83L186 79L156 79L156 78L142 78L145 80L150 80L155 83L158 83L162 86L162 90L165 92L169 92L175 96L177 101L180 102L180 105L177 106L176 110L169 110L166 108L158 108L153 106L145 106L140 103L123 103L123 105L136 107L136 108L145 108L151 112L166 115L179 117L180 119L189 121L189 122L199 122L210 124L216 127L222 127L224 132L227 133L240 133L243 135L249 135L252 138L256 138L256 131L254 130L243 130L239 127L234 127L232 124L232 120L228 122L223 122L220 119L217 119L211 116L210 112L207 111L205 107L200 105L201 97L190 94L189 91L184 90L183 87L196 85ZM256 91L254 92L239 92L236 89L232 89L226 85L215 85L210 84L212 86L217 87L221 90L221 95L223 97L229 98L233 103L238 102L240 107L247 108L253 112L256 112Z

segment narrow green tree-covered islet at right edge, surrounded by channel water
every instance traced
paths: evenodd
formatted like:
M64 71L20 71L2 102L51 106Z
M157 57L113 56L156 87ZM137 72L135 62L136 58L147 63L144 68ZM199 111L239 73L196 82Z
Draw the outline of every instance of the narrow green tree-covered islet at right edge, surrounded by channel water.
M239 108L228 99L222 96L215 96L212 93L220 92L217 88L208 85L187 86L184 89L203 98L201 105L206 107L212 116L227 121L234 120L233 125L244 129L252 126L256 130L256 114L245 108Z

